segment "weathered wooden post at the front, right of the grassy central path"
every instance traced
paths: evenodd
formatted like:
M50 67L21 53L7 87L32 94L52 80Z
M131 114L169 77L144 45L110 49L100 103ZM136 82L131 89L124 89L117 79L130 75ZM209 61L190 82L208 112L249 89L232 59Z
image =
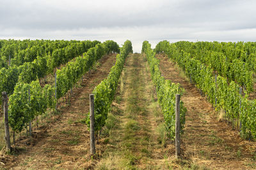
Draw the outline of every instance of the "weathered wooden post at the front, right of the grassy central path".
M175 157L180 157L180 94L176 94L175 106Z

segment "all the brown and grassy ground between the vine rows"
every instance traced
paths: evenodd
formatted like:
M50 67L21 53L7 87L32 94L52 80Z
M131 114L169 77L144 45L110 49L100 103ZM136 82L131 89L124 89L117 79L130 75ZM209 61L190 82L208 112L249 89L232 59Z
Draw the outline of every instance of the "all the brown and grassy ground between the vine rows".
M175 63L157 55L164 78L180 83L188 112L181 135L180 159L173 140L166 137L163 114L143 54L130 54L120 77L106 126L97 142L97 155L90 155L90 133L85 124L89 94L107 77L115 55L104 57L71 101L45 119L33 136L23 134L15 153L0 157L6 169L256 169L256 144L239 136L201 96L193 82ZM13 145L14 146L14 145Z

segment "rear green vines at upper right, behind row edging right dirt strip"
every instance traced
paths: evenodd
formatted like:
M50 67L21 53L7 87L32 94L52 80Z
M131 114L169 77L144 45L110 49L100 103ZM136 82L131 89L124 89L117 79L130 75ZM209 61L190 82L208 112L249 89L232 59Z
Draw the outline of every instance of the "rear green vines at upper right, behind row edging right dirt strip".
M189 57L199 60L206 66L210 66L220 76L227 78L229 82L236 81L239 85L246 87L248 92L253 90L253 67L256 58L248 57L244 52L247 43L218 43L218 42L189 42L179 41L174 43L177 52L189 53ZM161 41L156 46L157 52L170 55L168 41ZM171 45L172 46L172 45ZM239 50L238 50L239 49ZM248 58L250 60L248 60ZM256 71L256 69L254 69Z

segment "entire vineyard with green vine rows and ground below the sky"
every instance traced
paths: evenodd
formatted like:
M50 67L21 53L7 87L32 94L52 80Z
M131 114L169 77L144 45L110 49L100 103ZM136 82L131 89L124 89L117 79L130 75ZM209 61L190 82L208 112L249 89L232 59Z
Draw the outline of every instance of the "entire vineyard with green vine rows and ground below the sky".
M0 40L0 166L256 169L255 64L253 42Z

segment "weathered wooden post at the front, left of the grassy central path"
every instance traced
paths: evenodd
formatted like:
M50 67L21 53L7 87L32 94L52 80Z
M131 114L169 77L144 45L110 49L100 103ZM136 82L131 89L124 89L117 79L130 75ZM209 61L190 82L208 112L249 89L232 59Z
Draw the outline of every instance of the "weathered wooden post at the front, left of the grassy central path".
M91 155L95 155L94 94L90 94L90 150Z

